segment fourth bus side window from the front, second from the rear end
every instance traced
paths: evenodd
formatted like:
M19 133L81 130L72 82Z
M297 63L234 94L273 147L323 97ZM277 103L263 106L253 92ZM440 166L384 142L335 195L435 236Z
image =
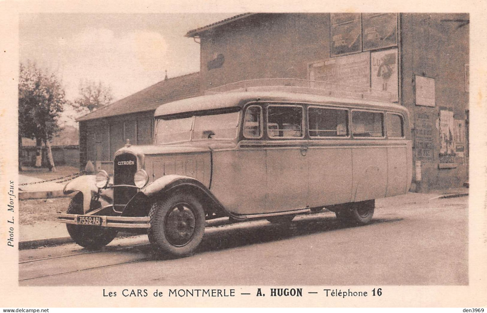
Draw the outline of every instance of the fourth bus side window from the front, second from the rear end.
M352 111L352 135L354 137L383 137L383 114L369 111Z

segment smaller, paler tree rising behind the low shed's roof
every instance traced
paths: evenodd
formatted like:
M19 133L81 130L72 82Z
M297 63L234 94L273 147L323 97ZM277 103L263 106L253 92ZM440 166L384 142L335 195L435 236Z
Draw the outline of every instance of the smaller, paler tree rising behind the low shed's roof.
M92 112L112 103L112 88L101 81L81 81L78 90L79 96L74 101L78 111L88 109Z

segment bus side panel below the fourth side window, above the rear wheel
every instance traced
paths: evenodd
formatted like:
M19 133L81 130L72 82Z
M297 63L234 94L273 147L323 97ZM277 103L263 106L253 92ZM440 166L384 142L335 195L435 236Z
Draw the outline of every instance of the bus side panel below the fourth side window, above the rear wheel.
M353 201L384 198L387 189L387 147L354 147Z

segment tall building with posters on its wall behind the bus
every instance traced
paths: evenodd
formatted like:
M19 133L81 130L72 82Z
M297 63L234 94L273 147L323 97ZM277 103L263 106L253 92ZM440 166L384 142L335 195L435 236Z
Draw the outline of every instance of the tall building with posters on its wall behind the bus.
M390 92L412 121L413 188L468 180L468 14L246 13L187 32L202 91L300 78Z

